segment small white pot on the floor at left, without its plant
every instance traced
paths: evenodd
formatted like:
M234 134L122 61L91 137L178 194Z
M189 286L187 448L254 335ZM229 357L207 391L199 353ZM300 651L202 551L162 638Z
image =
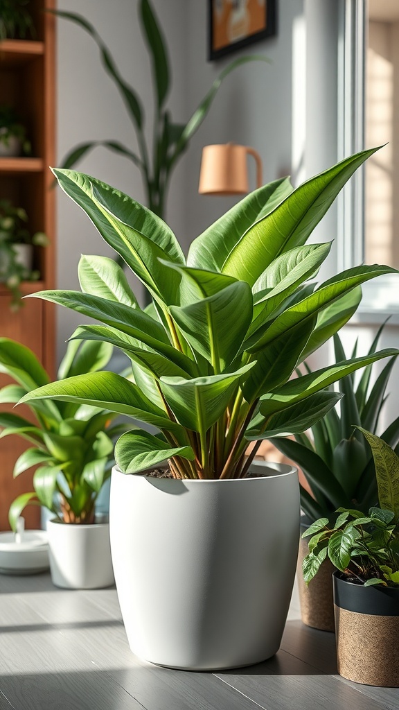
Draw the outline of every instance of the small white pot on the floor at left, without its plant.
M65 589L100 589L114 584L109 523L47 524L51 579Z

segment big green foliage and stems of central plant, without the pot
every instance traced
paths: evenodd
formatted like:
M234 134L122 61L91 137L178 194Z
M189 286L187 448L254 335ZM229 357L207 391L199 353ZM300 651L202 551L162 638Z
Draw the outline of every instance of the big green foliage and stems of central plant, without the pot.
M298 362L345 324L360 284L395 269L358 266L317 286L330 244L307 238L341 187L374 151L346 158L293 190L282 178L244 197L190 246L127 195L88 175L55 170L69 197L146 285L141 310L121 268L82 256L81 291L35 294L94 317L72 339L108 342L131 359L134 382L106 372L45 384L21 402L94 405L156 427L116 443L125 473L168 460L176 478L246 476L261 439L303 432L331 410L326 388L357 368L398 353L385 349L290 380ZM248 441L256 440L247 457Z

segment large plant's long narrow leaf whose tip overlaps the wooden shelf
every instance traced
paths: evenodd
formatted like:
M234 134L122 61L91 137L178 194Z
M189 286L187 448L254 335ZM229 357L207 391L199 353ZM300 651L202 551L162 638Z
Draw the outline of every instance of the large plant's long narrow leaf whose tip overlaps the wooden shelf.
M38 291L33 294L53 303L65 305L83 315L95 318L106 325L121 330L140 342L150 346L185 370L190 359L168 344L168 337L163 326L136 308L129 308L124 303L116 303L106 298L92 296L80 291ZM191 368L193 364L190 365Z

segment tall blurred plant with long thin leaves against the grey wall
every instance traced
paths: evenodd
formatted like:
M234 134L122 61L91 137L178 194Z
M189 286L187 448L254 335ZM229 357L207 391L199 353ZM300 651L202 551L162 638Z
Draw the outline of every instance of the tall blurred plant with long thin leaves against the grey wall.
M212 105L219 87L227 75L236 67L254 60L269 62L263 55L250 55L241 57L229 63L214 80L207 95L202 99L197 109L192 114L187 124L177 123L170 114L170 109L166 107L166 101L171 87L170 64L168 58L168 48L163 38L155 14L149 0L138 1L139 18L143 29L143 36L151 59L151 69L153 73L153 87L155 89L153 118L152 151L148 146L148 139L145 131L145 116L140 97L137 92L121 76L109 49L104 44L96 29L84 17L76 13L66 11L55 11L58 17L70 20L89 33L94 42L97 43L102 65L106 73L114 81L116 88L121 94L133 128L136 131L138 153L131 148L124 146L120 141L87 141L67 154L62 167L72 168L80 158L83 158L92 148L104 146L110 151L128 158L141 172L146 195L146 204L152 212L159 217L165 215L165 200L170 183L170 177L177 160L186 150L190 138L197 129Z

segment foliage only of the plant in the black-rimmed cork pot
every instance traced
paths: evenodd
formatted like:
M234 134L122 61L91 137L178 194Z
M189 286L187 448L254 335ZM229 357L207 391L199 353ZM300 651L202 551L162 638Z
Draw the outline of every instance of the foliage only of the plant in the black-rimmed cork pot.
M399 587L399 458L383 439L358 427L373 454L379 507L338 508L319 518L302 537L310 537L302 565L307 584L328 556L344 579L363 586Z

